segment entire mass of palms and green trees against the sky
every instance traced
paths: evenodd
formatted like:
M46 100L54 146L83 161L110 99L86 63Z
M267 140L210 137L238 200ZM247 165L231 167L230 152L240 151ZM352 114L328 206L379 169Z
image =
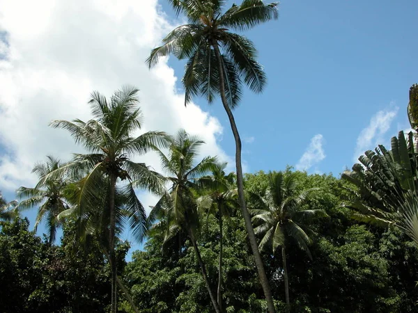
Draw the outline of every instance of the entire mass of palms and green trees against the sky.
M220 97L236 172L200 156L204 142L185 129L141 133L137 88L93 92L91 120L50 123L84 152L37 163L38 183L17 189L20 202L0 193L0 312L416 312L417 133L366 151L341 178L291 167L244 175L232 110L266 77L235 31L276 19L277 3L169 3L188 24L147 63L186 60L185 104ZM408 118L417 130L417 84ZM160 172L139 161L148 152ZM158 199L148 216L138 191ZM27 209L38 210L33 231ZM126 231L141 250L128 252Z

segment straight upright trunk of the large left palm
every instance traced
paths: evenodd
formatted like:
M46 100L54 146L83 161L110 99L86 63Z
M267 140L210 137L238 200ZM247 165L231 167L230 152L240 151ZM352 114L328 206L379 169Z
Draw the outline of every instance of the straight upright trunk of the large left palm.
M117 307L117 290L116 290L116 255L115 255L115 193L116 193L116 176L110 175L110 194L109 194L109 255L111 266L111 313L116 313Z

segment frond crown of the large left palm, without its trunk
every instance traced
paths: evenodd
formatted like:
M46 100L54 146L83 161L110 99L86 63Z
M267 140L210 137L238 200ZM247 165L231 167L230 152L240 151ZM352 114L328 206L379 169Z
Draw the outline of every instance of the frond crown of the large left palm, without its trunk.
M125 214L134 235L141 238L146 225L146 214L141 202L137 199L134 187L146 188L161 193L164 191L162 177L150 170L144 163L130 159L153 150L155 145L164 145L165 134L162 131L148 131L141 136L133 137L132 133L141 128L141 110L137 107L136 88L123 87L111 96L108 102L100 93L93 93L91 113L93 120L56 120L51 123L54 128L70 131L76 143L82 143L90 154L75 154L75 158L63 170L73 176L82 177L77 183L75 206L61 214L75 213L77 216L88 216L86 210L98 206L101 198L107 198L103 191L110 184L110 177L121 181L127 180L123 188L118 188L116 196L125 199L125 206L116 207L120 214ZM103 180L107 177L108 180ZM116 198L117 200L117 198ZM90 212L91 213L91 212Z

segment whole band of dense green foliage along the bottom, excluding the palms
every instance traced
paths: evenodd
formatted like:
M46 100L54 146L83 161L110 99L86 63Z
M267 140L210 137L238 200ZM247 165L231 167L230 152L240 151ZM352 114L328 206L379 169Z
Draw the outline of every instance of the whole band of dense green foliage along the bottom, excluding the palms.
M291 173L286 170L285 175ZM330 175L293 172L297 191L315 188L303 209L327 217L309 220L312 259L288 238L289 289L293 312L415 312L418 248L395 227L382 229L350 218L341 202L348 182ZM246 175L247 191L268 186L268 174ZM209 192L209 191L208 191ZM249 200L251 203L251 200ZM217 285L219 216L204 216L198 245L213 287ZM28 230L27 220L1 222L0 312L107 312L110 268L93 238L75 245L74 223L64 224L60 246ZM224 218L222 294L226 312L265 312L245 225L239 209ZM166 232L152 232L143 251L124 267L127 246L118 249L118 268L139 312L212 312L210 298L187 233L164 244ZM87 249L86 249L87 248ZM263 252L279 311L285 308L281 252ZM47 308L47 309L46 309ZM119 298L120 312L133 312Z

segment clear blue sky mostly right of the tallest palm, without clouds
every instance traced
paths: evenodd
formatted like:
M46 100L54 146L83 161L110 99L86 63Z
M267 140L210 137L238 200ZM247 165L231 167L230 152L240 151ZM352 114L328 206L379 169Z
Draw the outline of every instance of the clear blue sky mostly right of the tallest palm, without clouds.
M412 0L285 0L277 21L247 32L268 74L265 92L245 93L235 111L242 137L254 138L244 143L249 170L295 166L321 134L326 157L308 171L339 175L353 165L357 137L379 111L399 107L389 129L376 131L366 149L408 128L408 90L418 81L417 12ZM169 64L183 73L183 64ZM228 127L219 103L210 111ZM233 154L230 134L221 145Z

